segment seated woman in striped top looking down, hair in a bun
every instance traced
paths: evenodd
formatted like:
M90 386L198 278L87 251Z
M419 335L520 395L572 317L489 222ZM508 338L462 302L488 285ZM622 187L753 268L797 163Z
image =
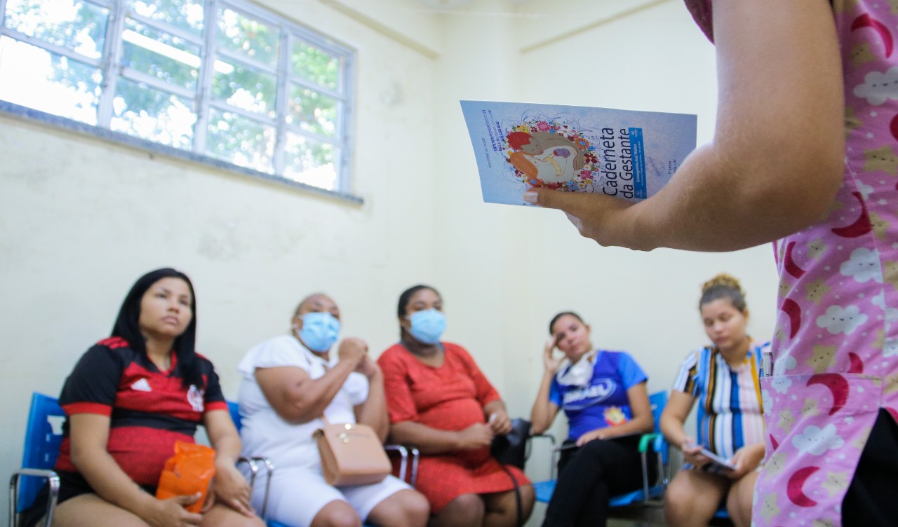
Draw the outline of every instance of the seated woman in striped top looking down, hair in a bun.
M752 519L757 468L764 457L762 352L746 333L748 307L742 287L732 276L718 274L701 288L699 310L711 346L691 351L682 362L670 399L661 415L661 430L678 445L686 462L665 495L671 527L708 525L726 503L736 527ZM698 437L683 423L698 402ZM733 468L712 462L702 448L725 458Z

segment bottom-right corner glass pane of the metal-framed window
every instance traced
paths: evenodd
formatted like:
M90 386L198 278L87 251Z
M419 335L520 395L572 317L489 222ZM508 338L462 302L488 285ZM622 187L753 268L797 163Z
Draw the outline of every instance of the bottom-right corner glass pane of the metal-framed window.
M332 144L320 143L298 134L286 134L284 177L327 190L337 188L339 151Z

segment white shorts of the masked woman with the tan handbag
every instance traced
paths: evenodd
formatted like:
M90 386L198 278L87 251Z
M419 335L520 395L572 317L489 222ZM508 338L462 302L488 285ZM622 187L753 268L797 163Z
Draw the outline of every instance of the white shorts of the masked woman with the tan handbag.
M339 500L356 509L365 522L377 504L406 488L411 487L392 476L372 485L331 487L324 481L320 471L276 467L271 478L267 512L269 519L286 523L290 527L308 527L324 505ZM252 506L260 514L264 496L265 477L261 475L256 478L252 491Z

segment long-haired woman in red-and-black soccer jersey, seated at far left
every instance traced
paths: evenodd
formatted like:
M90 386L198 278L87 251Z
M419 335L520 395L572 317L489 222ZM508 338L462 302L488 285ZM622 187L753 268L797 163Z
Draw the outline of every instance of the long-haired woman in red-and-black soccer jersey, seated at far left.
M59 396L66 423L53 527L263 527L234 467L240 436L218 376L194 350L196 309L187 275L148 272L128 292L110 338L75 365ZM199 494L156 499L155 486L175 441L193 443L200 424L216 450L216 476L197 514L185 507Z

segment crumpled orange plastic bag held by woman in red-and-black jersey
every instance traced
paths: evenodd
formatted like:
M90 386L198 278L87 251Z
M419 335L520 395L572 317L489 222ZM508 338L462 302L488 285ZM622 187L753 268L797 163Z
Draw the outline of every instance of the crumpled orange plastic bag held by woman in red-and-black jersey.
M166 499L200 493L197 503L186 508L198 513L206 502L212 477L216 475L216 451L205 445L175 441L174 455L165 462L156 497Z

